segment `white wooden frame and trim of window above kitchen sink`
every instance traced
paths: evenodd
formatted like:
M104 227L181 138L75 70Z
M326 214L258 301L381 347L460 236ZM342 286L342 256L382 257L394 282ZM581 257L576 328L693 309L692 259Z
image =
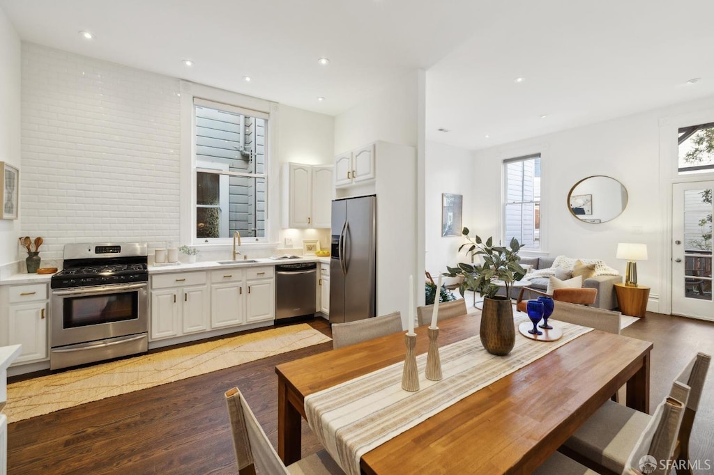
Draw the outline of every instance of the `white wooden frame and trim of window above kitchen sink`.
M261 248L275 247L279 234L279 219L277 205L278 196L278 157L277 157L277 123L279 107L277 103L263 99L244 96L243 94L223 91L221 89L203 86L201 84L181 81L181 244L187 244L205 250L211 247L226 247L232 245L232 237L197 238L196 228L196 173L198 171L216 173L216 170L201 169L196 165L196 101L198 105L223 108L226 111L237 112L250 116L256 113L265 115L266 119L266 173L241 173L240 176L256 176L265 178L266 210L265 237L243 237L242 245ZM213 105L211 105L213 104ZM232 175L233 173L220 173Z

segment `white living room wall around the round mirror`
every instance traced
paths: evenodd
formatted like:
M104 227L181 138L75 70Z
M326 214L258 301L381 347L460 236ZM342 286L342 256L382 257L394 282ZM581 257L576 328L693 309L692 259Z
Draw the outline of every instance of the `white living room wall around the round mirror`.
M624 275L625 262L615 259L618 242L643 242L650 258L638 262L638 282L651 287L649 310L660 311L660 293L670 292L662 283L668 272L667 203L670 183L679 180L673 172L660 171L661 125L674 116L707 110L710 113L703 117L714 120L714 97L476 151L473 178L479 183L476 200L481 206L474 220L484 228L483 235L501 235L501 160L541 151L544 253L602 259ZM675 160L671 155L663 154L666 160ZM664 168L674 169L671 165ZM568 191L590 175L608 175L627 188L628 206L618 218L590 224L570 215Z

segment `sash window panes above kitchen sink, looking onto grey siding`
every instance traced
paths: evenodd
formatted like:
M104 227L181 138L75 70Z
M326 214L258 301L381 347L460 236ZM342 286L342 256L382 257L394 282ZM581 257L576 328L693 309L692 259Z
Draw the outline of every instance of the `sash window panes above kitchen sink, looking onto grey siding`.
M193 242L266 241L268 114L193 99Z

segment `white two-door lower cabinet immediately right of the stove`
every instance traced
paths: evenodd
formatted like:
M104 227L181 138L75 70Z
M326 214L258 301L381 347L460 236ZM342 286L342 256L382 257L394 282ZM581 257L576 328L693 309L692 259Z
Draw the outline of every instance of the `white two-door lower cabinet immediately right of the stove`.
M151 279L151 339L209 329L206 272L176 272Z

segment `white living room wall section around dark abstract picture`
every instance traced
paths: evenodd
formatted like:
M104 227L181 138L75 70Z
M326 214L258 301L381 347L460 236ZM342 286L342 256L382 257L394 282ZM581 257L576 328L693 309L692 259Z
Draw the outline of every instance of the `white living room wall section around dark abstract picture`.
M480 203L475 199L480 180L474 180L476 165L471 152L428 141L426 143L426 270L436 281L446 266L458 262L468 262L465 252L458 247L466 240L463 237L441 236L441 194L463 195L463 223L471 230L478 231L478 222L473 218ZM459 229L461 233L461 229Z

